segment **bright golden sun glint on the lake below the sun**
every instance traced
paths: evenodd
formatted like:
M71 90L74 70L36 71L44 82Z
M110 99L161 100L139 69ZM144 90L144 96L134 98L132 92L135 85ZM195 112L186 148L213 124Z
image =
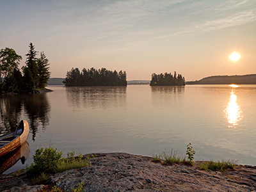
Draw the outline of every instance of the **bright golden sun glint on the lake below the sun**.
M233 88L239 87L236 84L230 84L229 86ZM232 125L238 125L239 120L241 120L241 118L243 117L242 116L243 111L237 104L237 96L234 93L234 90L232 90L230 93L230 99L229 99L227 108L224 111L227 116L228 123Z

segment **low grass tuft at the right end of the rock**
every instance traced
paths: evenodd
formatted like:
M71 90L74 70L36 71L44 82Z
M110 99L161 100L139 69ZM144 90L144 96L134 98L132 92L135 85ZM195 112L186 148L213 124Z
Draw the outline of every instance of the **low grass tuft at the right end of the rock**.
M212 171L220 171L220 172L225 172L227 170L234 170L236 166L236 161L234 160L228 160L228 161L207 161L205 163L199 163L198 166L205 170L212 170Z

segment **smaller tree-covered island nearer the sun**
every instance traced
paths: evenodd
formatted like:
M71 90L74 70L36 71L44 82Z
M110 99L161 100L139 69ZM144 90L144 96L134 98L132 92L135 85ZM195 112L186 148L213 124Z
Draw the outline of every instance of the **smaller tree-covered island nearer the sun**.
M185 78L182 75L176 74L174 76L170 73L164 74L152 74L152 79L150 81L150 86L182 86L185 85Z

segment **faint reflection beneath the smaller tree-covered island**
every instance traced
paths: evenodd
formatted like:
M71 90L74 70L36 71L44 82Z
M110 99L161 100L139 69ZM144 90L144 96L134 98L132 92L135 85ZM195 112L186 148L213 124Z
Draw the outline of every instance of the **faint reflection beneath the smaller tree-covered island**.
M152 102L156 108L171 107L184 95L184 86L151 86Z

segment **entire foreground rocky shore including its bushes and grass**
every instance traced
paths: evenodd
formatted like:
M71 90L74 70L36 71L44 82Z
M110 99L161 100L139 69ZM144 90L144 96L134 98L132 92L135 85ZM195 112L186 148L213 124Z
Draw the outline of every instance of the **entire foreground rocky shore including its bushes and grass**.
M256 166L237 165L230 160L193 161L194 155L190 143L186 157L165 150L152 157L125 153L74 156L74 152L68 152L63 158L52 147L39 148L31 166L0 175L0 191L256 190Z

